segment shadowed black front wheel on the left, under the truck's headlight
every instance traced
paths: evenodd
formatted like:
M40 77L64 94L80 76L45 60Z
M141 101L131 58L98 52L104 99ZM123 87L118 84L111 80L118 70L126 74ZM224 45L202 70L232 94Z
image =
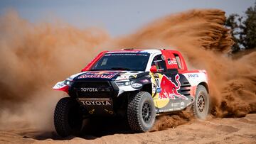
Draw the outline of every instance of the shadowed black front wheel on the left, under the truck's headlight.
M54 111L54 126L58 135L78 135L82 128L82 120L82 111L75 99L65 97L58 101Z

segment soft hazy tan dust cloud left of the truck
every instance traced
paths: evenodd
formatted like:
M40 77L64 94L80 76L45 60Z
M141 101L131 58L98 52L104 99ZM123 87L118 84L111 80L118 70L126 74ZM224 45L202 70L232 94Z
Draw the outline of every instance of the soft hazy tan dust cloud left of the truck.
M15 11L0 17L0 33L1 128L25 121L52 129L53 109L64 95L54 92L53 85L80 72L110 39L97 28L28 23Z

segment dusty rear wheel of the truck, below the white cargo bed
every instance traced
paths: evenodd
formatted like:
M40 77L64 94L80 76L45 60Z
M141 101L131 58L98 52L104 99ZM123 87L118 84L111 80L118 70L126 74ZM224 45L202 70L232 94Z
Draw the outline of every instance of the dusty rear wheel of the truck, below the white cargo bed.
M196 97L193 104L193 112L196 118L206 119L209 109L209 96L206 87L198 85L196 89Z

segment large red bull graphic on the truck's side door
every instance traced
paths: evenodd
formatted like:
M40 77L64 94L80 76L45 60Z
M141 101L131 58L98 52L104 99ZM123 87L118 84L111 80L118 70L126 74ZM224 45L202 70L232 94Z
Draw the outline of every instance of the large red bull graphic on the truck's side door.
M181 88L181 82L179 82L180 76L176 74L175 81L177 85L172 82L168 77L163 75L161 79L161 92L159 94L159 99L176 99L176 97L181 99L188 99L186 96L178 93L178 90Z

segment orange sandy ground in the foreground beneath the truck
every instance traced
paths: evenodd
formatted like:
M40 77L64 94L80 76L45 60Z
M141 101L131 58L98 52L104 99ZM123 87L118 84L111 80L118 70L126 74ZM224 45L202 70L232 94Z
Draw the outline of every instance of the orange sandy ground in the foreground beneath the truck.
M24 125L23 128L0 131L0 143L256 143L256 114L243 118L194 120L164 131L122 134L116 131L115 134L84 135L64 140L54 132L41 133Z

